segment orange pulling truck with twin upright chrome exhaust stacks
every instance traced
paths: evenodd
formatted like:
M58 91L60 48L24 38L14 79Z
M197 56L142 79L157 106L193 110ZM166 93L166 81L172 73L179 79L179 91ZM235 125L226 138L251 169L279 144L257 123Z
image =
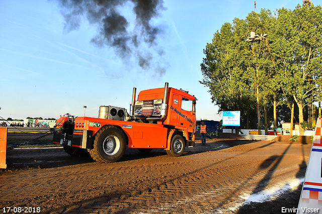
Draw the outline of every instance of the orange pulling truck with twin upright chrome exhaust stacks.
M102 105L98 118L66 114L56 121L54 143L70 155L90 153L98 162L119 160L126 147L150 152L164 149L181 156L195 145L196 97L169 87L139 92L133 88L131 115L124 108Z

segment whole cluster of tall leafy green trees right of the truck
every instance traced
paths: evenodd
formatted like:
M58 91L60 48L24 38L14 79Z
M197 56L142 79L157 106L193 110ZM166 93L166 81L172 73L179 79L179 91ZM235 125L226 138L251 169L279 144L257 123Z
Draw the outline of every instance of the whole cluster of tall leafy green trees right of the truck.
M246 42L252 31L268 34L267 40ZM282 8L274 15L262 9L245 20L235 18L207 43L200 83L209 88L219 112L240 111L241 124L250 120L254 124L257 103L272 115L274 100L287 106L288 113L294 100L297 121L302 123L304 106L322 99L321 35L320 6L298 5L293 11Z

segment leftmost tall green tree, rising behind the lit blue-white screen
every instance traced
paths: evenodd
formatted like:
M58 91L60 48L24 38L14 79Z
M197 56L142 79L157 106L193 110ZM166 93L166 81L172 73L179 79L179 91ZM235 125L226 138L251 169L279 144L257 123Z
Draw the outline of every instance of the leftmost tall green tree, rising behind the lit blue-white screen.
M225 23L207 43L201 63L204 75L202 84L209 87L212 102L219 111L241 111L247 115L246 106L252 105L254 95L249 82L248 66L251 50L246 44L246 22L235 19L233 25ZM247 54L249 53L249 54ZM245 120L246 121L246 120Z

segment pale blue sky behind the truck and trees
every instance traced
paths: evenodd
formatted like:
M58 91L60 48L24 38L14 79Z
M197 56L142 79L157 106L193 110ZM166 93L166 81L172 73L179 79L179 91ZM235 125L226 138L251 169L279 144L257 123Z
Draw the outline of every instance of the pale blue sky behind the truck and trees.
M129 112L133 87L138 94L169 82L196 96L197 120L221 120L209 88L199 83L203 49L224 23L254 11L254 0L164 0L157 13L140 16L133 1L116 2L105 9L111 16L102 18L86 12L99 12L93 3L82 8L59 0L0 0L0 117L98 117L101 105ZM256 1L256 11L298 4ZM112 18L116 25L102 28L102 20Z

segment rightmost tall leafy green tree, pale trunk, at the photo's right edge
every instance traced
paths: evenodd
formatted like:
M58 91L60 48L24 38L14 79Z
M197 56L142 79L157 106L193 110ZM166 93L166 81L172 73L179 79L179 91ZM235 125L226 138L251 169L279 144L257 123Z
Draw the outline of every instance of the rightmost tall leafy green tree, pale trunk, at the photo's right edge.
M284 70L283 78L286 93L293 96L299 110L299 123L303 123L303 108L307 98L316 91L320 77L322 10L321 7L303 7L294 11L278 10L280 49L277 50ZM303 135L300 129L300 135Z

